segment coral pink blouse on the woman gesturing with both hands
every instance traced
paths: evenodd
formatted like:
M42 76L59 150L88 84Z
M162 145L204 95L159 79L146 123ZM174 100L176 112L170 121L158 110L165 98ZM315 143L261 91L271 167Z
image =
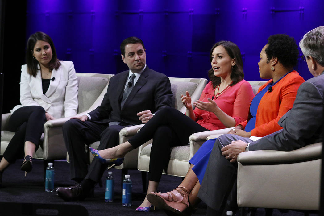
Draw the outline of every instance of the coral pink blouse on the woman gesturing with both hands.
M207 83L199 100L209 102L208 97L214 97L214 92L215 88L213 88L212 82ZM233 86L229 86L219 97L214 98L214 101L220 109L235 119L237 125L247 119L253 97L254 93L251 85L247 81L242 80ZM208 130L226 128L212 112L199 108L195 108L193 112L196 115L197 123Z

